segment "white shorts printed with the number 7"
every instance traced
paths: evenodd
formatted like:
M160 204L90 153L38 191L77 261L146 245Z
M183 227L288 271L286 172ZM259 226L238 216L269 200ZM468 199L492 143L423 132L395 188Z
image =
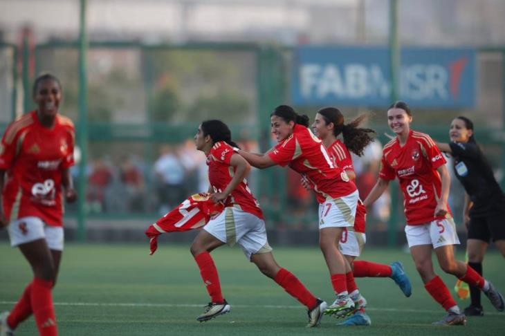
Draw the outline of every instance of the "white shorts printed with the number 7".
M319 204L319 230L325 227L353 227L358 204L358 190L339 198L328 197Z

